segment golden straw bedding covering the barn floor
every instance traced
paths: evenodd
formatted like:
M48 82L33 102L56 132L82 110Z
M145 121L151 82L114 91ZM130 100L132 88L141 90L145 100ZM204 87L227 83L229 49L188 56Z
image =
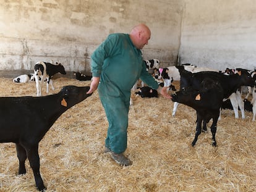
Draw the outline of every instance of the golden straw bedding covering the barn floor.
M34 82L0 80L0 96L36 95ZM49 94L64 85L90 85L69 78L53 83L56 89ZM45 90L43 85L43 94ZM40 142L40 170L48 191L256 191L251 112L242 120L224 110L217 127L218 146L211 146L208 130L192 148L194 109L180 105L172 117L172 101L161 96L132 98L126 154L134 164L120 167L103 154L108 122L95 92L62 114ZM36 191L28 161L27 174L17 176L15 144L0 144L0 160L0 191Z

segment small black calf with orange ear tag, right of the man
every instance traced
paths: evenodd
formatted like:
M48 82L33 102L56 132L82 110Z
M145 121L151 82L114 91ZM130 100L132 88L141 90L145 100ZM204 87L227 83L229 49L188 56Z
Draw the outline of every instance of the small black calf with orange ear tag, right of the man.
M210 78L203 80L200 86L199 90L195 90L192 86L182 88L172 95L172 100L186 104L197 111L197 127L192 146L195 145L202 132L202 122L208 123L211 119L213 119L211 124L212 146L216 146L215 135L220 107L223 102L223 89L218 81ZM205 128L203 127L204 131L206 131Z

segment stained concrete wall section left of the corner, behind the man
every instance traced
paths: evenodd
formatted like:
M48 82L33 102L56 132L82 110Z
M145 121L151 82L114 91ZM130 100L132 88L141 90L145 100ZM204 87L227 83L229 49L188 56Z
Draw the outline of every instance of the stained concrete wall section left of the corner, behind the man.
M90 54L109 33L151 28L145 59L175 64L183 1L0 0L0 70L32 70L36 61L90 71Z

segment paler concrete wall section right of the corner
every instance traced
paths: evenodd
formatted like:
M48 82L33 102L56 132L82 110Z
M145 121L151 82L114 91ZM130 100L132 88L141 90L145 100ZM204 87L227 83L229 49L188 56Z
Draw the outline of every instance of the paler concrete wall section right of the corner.
M181 34L181 63L256 68L254 0L186 0Z

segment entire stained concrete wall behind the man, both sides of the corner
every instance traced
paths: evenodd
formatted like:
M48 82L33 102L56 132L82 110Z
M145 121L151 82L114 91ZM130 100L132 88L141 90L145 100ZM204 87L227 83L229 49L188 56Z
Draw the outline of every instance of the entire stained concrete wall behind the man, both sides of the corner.
M90 72L90 54L109 33L147 23L145 59L222 70L255 69L254 0L0 0L0 70L36 61Z

